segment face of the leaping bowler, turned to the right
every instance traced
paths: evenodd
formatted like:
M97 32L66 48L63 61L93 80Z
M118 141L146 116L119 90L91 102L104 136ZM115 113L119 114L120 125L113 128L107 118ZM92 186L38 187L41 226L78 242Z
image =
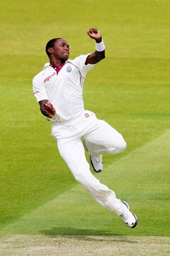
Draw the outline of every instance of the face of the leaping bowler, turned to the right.
M57 40L51 49L56 59L66 61L69 58L69 45L64 39Z

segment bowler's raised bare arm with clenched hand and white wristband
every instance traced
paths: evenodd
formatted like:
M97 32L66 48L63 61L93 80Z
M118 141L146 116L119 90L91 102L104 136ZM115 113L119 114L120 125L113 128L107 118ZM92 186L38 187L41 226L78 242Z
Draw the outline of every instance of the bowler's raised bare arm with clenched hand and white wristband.
M102 40L102 36L97 28L90 28L87 31L87 34L90 36L90 38L96 40L96 51L89 54L85 61L85 65L96 64L97 62L105 58L105 47Z

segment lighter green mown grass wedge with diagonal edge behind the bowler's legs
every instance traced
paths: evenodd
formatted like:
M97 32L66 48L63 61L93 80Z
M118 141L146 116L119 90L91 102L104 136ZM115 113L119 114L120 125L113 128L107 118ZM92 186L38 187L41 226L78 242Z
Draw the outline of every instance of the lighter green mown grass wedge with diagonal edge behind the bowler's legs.
M139 219L134 230L96 204L80 184L1 230L11 234L168 236L170 130L110 164L97 177L129 202ZM154 160L154 161L153 161ZM161 199L161 200L160 200ZM161 225L160 225L161 223Z

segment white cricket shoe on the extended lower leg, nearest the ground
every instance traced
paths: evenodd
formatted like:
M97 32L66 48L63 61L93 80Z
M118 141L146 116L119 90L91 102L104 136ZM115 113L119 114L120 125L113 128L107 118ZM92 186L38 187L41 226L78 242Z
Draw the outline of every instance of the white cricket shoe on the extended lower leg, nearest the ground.
M138 224L136 215L129 211L129 205L126 202L122 201L122 204L124 204L124 212L120 215L120 217L124 221L125 225L130 228L135 228Z

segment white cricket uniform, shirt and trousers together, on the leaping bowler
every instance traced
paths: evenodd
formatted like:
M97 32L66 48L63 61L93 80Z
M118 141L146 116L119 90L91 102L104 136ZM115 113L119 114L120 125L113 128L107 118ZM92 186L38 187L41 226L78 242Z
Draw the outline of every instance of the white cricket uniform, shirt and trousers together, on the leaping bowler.
M33 92L38 102L46 99L56 110L50 119L53 122L52 136L57 140L60 155L75 179L99 204L120 215L123 212L122 202L92 175L81 143L81 138L84 138L89 154L96 157L104 153L116 154L126 147L120 133L84 109L83 81L87 71L94 67L85 65L88 55L67 60L58 74L50 63L46 63L43 71L33 79Z

